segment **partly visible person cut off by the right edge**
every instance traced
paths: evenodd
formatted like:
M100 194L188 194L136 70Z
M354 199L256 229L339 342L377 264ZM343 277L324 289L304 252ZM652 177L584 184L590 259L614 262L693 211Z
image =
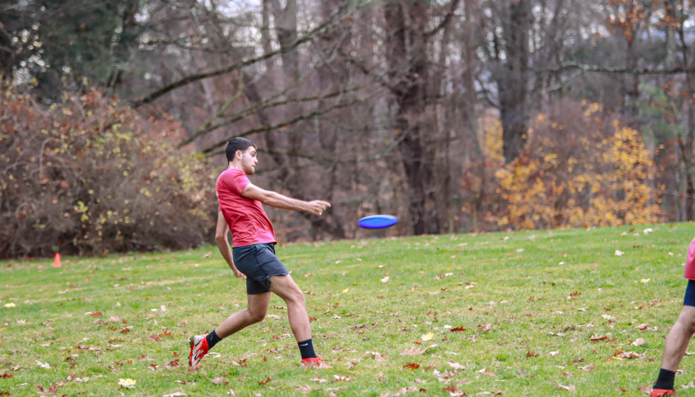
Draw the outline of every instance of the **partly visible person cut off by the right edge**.
M650 397L676 394L673 388L675 373L685 355L690 338L695 334L695 239L690 242L688 248L684 276L688 279L688 286L685 288L683 308L680 310L678 320L675 321L671 331L668 331L668 336L666 336L662 368L659 370L659 377L652 387Z

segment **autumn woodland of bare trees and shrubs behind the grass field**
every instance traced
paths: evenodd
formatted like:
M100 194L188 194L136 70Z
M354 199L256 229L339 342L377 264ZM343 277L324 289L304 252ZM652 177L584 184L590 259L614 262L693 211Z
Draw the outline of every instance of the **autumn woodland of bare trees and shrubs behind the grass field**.
M686 0L9 0L0 258L212 241L226 140L278 241L695 220ZM357 219L401 218L386 232Z

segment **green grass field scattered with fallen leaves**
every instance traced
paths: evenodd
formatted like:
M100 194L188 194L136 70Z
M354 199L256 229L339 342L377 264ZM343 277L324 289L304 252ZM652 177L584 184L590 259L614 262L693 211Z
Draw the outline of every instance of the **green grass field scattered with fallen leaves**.
M188 371L188 337L246 305L216 247L69 257L58 269L0 262L0 396L36 396L37 384L57 396L643 395L695 233L651 227L278 246L326 370L299 366L273 297L264 322ZM682 362L681 394L695 390L682 388L694 360Z

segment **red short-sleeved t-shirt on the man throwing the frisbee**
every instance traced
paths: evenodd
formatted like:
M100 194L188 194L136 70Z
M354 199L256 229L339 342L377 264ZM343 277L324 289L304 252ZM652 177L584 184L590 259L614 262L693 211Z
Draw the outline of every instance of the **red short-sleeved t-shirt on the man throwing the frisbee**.
M220 211L232 230L232 246L275 243L273 225L261 202L241 196L248 183L251 182L244 171L234 168L226 170L217 179L217 198Z

